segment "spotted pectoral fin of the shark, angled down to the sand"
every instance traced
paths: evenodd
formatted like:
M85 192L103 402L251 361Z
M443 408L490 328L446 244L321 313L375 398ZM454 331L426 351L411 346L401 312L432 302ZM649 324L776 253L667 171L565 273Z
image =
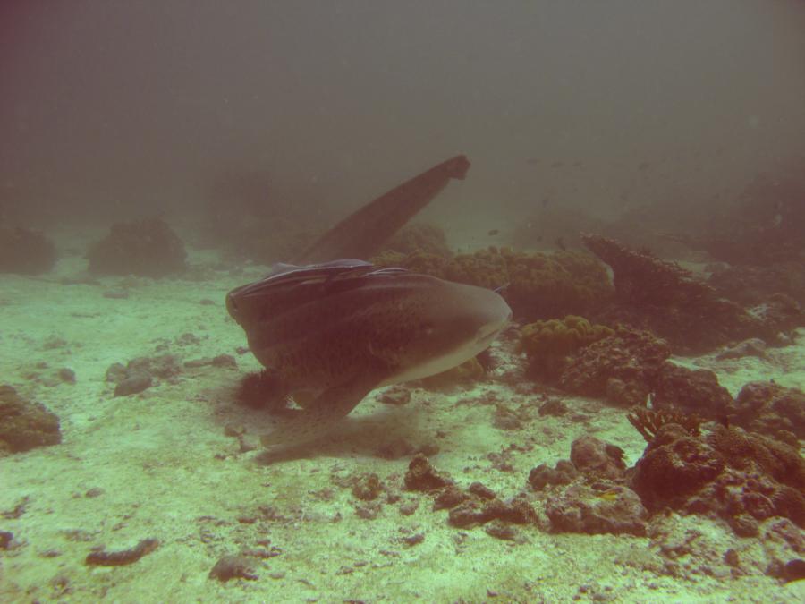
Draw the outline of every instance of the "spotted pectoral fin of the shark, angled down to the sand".
M301 411L277 419L274 430L263 435L260 441L264 447L274 448L301 445L326 436L378 383L360 378L328 388Z

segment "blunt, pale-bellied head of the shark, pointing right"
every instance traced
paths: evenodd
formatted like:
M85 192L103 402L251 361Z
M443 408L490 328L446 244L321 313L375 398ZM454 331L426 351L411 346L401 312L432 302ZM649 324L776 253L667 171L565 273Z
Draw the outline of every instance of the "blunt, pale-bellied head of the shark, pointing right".
M512 320L512 309L496 292L436 277L414 278L423 286L400 309L399 320L409 332L397 351L401 370L385 384L427 378L469 361Z

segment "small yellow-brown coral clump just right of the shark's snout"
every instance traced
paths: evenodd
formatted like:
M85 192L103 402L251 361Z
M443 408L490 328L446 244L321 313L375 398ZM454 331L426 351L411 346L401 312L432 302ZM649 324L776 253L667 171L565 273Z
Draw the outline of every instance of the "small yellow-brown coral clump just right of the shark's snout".
M520 347L529 360L529 373L537 379L555 382L572 354L614 331L593 325L577 315L564 319L535 321L520 329Z

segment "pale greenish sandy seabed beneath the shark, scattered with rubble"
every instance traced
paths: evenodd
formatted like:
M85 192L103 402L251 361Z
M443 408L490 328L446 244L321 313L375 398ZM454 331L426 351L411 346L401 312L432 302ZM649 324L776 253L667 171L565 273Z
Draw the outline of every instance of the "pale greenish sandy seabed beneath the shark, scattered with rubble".
M377 455L390 443L438 447L437 469L504 498L528 492L530 469L567 458L584 434L622 447L627 464L640 457L645 442L623 410L593 400L563 397L573 413L530 413L517 430L496 428L501 404L540 396L534 385L513 383L519 360L500 343L503 366L487 381L450 394L414 389L399 407L381 404L377 391L332 438L267 455L258 447L266 413L233 402L242 374L259 367L237 352L245 338L224 305L229 289L265 268L233 275L220 267L214 253L191 251L191 278L65 285L85 268L68 256L45 277L0 276L0 383L45 404L63 434L61 445L0 458L0 531L13 532L0 552L0 600L805 601L805 582L764 574L763 544L723 523L670 518L682 535L699 532L700 545L676 561L682 573L669 574L648 537L527 526L500 540L483 527L449 526L432 498L405 491L411 455ZM805 330L797 342L767 360L676 361L715 370L733 395L753 379L802 387ZM105 379L112 363L160 354L173 354L182 370L138 395L114 396ZM238 368L183 367L219 354L233 355ZM58 379L64 368L74 384ZM242 438L226 435L237 427ZM387 488L372 506L347 486L365 472ZM538 498L534 506L541 515ZM130 565L86 564L94 549L147 539L157 549ZM741 573L724 571L727 549L739 553ZM216 561L239 553L252 578L209 578Z

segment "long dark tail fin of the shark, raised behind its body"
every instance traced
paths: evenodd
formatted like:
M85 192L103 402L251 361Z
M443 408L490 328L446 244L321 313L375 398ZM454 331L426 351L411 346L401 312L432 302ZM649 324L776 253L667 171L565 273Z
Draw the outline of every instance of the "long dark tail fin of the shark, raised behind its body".
M301 257L294 259L294 264L336 258L368 259L402 225L427 206L452 178L463 180L469 169L470 161L459 155L414 176L344 218Z

